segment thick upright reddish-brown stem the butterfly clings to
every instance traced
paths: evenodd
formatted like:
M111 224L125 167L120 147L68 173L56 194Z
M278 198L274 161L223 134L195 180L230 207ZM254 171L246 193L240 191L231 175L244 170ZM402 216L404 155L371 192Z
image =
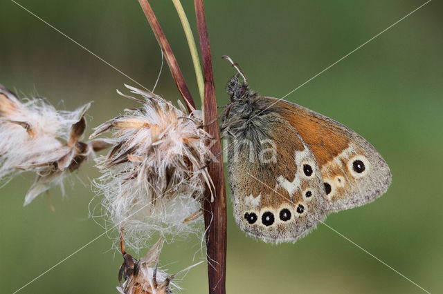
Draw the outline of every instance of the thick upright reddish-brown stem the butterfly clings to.
M205 79L204 97L204 123L205 130L215 139L211 151L213 154L221 153L221 141L218 124L208 124L217 119L217 101L215 100L213 62L210 56L208 28L203 6L203 0L195 0L195 14L199 30L201 59ZM215 199L210 202L210 193L206 193L205 227L206 251L208 255L208 277L210 293L226 293L226 190L224 182L223 159L219 157L208 166L210 177L215 186Z

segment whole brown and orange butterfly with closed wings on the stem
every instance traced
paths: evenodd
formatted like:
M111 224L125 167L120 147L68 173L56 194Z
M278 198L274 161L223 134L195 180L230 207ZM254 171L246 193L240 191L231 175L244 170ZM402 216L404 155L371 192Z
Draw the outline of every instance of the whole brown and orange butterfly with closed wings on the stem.
M264 242L296 242L327 213L386 192L386 161L343 124L250 90L241 68L228 81L221 114L228 178L239 228ZM240 81L242 77L243 81Z

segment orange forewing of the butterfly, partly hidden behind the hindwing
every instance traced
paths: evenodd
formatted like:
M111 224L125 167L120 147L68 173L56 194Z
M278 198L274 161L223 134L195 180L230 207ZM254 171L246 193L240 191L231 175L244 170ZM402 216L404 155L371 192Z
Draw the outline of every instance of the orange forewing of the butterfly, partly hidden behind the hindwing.
M296 128L314 153L325 183L327 210L361 206L386 192L391 174L386 161L363 137L350 128L291 102L269 99Z

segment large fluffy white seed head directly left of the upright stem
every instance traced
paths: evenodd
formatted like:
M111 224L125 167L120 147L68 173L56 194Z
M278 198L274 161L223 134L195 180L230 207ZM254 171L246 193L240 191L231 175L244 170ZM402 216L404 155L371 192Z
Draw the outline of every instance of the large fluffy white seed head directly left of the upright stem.
M143 100L141 108L98 126L94 137L112 132L114 148L97 159L103 175L95 181L111 222L125 228L128 245L143 248L154 231L174 236L197 232L201 202L211 186L210 136L201 118L186 115L169 101L127 86ZM198 223L198 222L197 222Z

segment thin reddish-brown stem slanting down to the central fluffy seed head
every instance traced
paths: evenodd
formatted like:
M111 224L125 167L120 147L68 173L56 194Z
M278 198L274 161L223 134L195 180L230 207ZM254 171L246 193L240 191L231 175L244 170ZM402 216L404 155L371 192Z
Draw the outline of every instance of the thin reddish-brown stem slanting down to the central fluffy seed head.
M160 23L157 21L150 3L147 0L138 0L138 2L140 3L143 12L145 12L147 21L149 21L150 26L154 31L154 35L159 42L160 48L163 51L163 55L165 56L166 62L168 62L168 66L171 70L172 77L174 77L175 84L177 85L177 88L179 88L180 95L185 101L189 112L191 112L192 109L195 109L195 103L192 99L191 93L189 92L188 86L186 86L185 79L183 78L183 75L181 75L179 63L177 63L177 59L175 59L174 53L172 52L171 46L166 39L165 33L161 29Z

